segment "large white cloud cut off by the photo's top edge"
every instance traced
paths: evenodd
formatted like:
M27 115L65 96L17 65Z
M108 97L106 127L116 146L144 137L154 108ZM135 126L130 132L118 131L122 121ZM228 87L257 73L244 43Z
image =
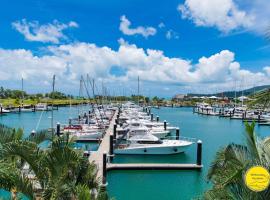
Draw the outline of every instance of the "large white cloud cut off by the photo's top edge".
M255 16L240 10L233 0L185 0L177 9L197 26L216 27L224 33L251 28L255 22Z

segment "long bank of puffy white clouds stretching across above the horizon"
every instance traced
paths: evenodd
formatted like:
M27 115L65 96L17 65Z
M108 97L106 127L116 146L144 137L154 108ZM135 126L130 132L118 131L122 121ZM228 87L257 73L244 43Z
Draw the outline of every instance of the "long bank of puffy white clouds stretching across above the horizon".
M231 89L235 81L243 79L246 80L245 87L270 83L269 67L261 72L241 69L234 53L229 50L202 57L197 63L168 57L160 50L144 50L123 39L119 41L118 50L82 42L50 46L47 50L48 54L36 56L30 50L0 49L0 81L14 82L23 76L27 83L40 87L56 74L59 84L65 83L70 90L82 74L89 73L109 83L128 85L140 76L141 80L156 86L186 85L192 86L192 90L199 84L209 90ZM120 76L111 74L113 66L125 73Z

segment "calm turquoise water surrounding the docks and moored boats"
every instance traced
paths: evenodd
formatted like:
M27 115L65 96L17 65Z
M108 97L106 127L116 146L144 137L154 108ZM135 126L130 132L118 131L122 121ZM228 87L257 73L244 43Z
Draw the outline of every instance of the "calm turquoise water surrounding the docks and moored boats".
M87 107L62 107L54 111L54 121L66 124L68 118L78 115L80 110L87 112ZM171 125L180 127L182 136L197 138L203 141L203 165L201 172L197 171L112 171L108 173L108 191L116 200L179 200L192 199L210 187L206 183L208 167L215 152L230 142L244 141L244 125L241 121L202 116L192 113L191 108L161 108L152 110L161 120L167 120ZM21 127L26 133L33 129L50 127L50 112L8 114L0 116L0 123L11 127ZM40 120L40 124L38 122ZM262 136L270 135L269 127L257 127ZM96 144L80 144L87 149L96 149ZM196 162L196 145L186 153L170 156L116 156L114 162ZM6 194L6 193L5 193ZM0 192L0 196L4 193Z

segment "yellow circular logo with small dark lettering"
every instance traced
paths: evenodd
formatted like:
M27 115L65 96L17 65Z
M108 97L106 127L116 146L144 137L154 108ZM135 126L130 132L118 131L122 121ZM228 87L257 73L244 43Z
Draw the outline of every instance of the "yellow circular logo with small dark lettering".
M250 190L261 192L268 188L270 184L270 174L264 167L251 167L245 174L245 183Z

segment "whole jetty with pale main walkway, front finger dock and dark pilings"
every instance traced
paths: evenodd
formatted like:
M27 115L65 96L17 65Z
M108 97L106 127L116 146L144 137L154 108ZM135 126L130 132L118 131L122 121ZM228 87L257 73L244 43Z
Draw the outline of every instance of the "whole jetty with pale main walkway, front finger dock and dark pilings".
M119 125L119 114L121 109L115 111L110 120L109 127L107 128L97 151L91 152L89 162L97 165L97 179L102 180L101 186L107 185L107 171L112 170L197 170L203 168L202 165L202 141L197 141L197 156L194 163L113 163L114 158L114 144L117 140L117 126ZM149 109L145 109L151 115L153 114ZM158 119L159 117L157 117ZM164 121L164 129L166 130L167 122ZM176 129L176 135L179 138L179 129Z

